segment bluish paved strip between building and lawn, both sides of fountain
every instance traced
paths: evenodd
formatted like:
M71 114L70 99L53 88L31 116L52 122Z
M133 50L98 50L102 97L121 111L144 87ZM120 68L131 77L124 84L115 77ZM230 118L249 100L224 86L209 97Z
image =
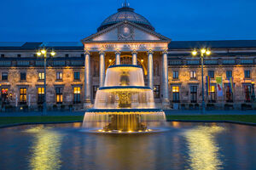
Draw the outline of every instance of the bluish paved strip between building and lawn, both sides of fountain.
M189 111L189 110L172 110L165 111L166 115L202 115L201 111ZM256 115L256 111L206 111L204 115ZM84 111L48 111L46 115L43 112L0 112L1 116L84 116Z

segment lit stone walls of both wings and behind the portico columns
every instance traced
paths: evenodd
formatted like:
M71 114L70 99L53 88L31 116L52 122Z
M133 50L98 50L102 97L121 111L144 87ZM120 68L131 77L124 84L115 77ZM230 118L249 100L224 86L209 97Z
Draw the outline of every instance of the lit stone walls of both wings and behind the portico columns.
M172 42L171 42L172 43ZM173 42L175 43L175 42ZM256 49L256 48L255 48ZM227 50L227 48L223 49ZM217 97L214 101L216 107L223 108L225 104L231 104L234 108L239 109L241 104L246 102L245 85L252 87L252 82L256 80L256 67L255 67L255 55L252 54L252 48L243 49L242 53L236 55L236 53L230 54L230 56L223 56L223 53L219 53L219 49L212 48L212 56L207 59L216 60L216 62L207 62L205 60L204 77L208 76L208 71L214 71L214 77L223 77L224 96ZM46 71L47 82L47 105L49 110L53 110L55 106L61 108L61 105L65 105L65 109L73 107L73 110L82 110L84 103L84 50L72 50L65 51L56 47L56 57L54 59L48 59L48 67ZM214 52L215 51L215 52ZM5 105L23 106L20 104L20 88L26 88L26 104L29 105L31 110L38 110L38 88L44 88L44 81L38 79L38 73L44 72L44 61L34 57L35 50L21 50L15 52L15 50L0 50L0 54L4 54L4 57L0 59L0 75L1 75L1 88L8 88L8 99L5 101ZM189 108L191 103L190 86L195 85L197 88L197 101L201 105L201 65L200 59L195 59L191 54L186 53L187 49L179 50L178 57L175 49L169 49L168 51L168 82L169 82L169 96L170 106L177 103L181 109L184 107ZM20 54L20 58L17 57ZM68 54L68 57L66 56ZM234 55L235 54L235 55ZM121 54L121 64L131 64L131 53L124 52ZM162 66L160 63L161 53L154 53L154 87L155 101L159 107L161 107L162 90L161 90L161 75ZM229 61L227 59L234 59ZM198 62L189 62L189 60L198 60ZM137 54L138 65L143 67L145 74L145 82L148 82L148 54L146 52L139 52ZM114 65L115 54L108 53L105 56L105 68ZM91 71L91 100L95 96L96 88L99 87L99 54L92 53L90 57L90 71ZM178 78L173 78L173 71L178 72ZM196 78L190 78L190 71L196 71ZM232 71L232 77L234 78L235 89L233 94L233 102L227 102L225 97L225 86L230 84L230 80L226 78L226 71ZM250 77L245 77L245 71L250 71ZM20 80L20 73L26 72L26 80ZM61 72L62 80L56 79L57 72ZM79 80L74 80L74 72L79 72ZM8 73L8 80L2 79L2 73ZM215 78L212 78L211 84L216 86ZM172 87L179 87L179 101L173 101ZM62 88L63 101L62 104L56 103L56 91L55 88ZM80 88L80 103L73 103L73 88ZM205 86L206 88L206 86ZM159 93L158 94L158 91ZM216 93L216 92L215 92ZM253 93L253 92L252 92ZM17 98L17 99L16 99ZM207 94L205 94L206 102L208 103ZM193 104L195 105L195 103Z

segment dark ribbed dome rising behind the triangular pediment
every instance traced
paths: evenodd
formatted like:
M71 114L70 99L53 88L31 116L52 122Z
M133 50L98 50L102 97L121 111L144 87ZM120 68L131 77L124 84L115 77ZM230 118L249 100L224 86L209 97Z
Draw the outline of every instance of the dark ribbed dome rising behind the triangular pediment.
M102 22L102 25L97 29L97 31L102 31L108 28L109 26L113 26L114 24L124 20L131 21L133 23L136 23L140 26L146 27L154 31L154 27L145 17L135 13L134 8L130 8L126 5L122 8L119 8L117 13L110 15L106 20L104 20Z

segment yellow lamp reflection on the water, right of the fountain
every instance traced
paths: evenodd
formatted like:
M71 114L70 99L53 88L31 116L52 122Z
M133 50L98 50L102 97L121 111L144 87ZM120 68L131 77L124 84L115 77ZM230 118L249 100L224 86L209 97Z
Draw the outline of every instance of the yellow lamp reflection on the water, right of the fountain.
M223 165L218 156L217 133L224 127L195 127L186 131L185 138L189 145L189 167L191 169L216 170Z

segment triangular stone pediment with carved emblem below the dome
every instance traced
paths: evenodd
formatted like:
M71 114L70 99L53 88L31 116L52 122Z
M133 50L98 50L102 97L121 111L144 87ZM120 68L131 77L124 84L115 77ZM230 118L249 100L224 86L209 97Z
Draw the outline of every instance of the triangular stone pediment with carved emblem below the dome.
M86 37L82 42L170 42L155 31L139 26L129 21L123 21L105 30Z

